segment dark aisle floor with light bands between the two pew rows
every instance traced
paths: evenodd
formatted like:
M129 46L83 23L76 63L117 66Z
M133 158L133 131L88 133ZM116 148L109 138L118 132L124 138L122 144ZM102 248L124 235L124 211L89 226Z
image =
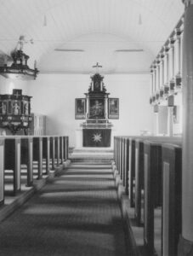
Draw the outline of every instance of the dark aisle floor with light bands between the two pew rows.
M133 256L126 253L110 165L72 164L5 219L0 230L3 256Z

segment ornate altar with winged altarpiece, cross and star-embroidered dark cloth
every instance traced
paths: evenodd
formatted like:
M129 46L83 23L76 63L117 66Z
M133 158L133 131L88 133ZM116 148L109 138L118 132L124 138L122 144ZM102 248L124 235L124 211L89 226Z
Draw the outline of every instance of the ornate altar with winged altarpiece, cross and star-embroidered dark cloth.
M104 77L98 72L91 77L91 84L85 98L77 98L75 104L75 118L84 119L79 131L78 145L82 147L102 147L107 148L112 145L113 126L110 119L118 119L119 102L117 98L109 98L110 93L106 92Z

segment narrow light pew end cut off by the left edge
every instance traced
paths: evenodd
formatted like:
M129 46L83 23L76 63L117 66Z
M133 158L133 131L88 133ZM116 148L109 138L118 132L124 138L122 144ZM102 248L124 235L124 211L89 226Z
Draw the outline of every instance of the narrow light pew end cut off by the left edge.
M0 137L0 206L4 203L4 138Z

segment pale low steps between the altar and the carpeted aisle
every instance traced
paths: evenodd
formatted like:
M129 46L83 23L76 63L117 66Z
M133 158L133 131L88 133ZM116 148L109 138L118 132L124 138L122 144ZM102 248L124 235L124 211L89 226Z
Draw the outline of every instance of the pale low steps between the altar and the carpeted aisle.
M110 163L113 160L112 148L74 148L69 154L71 162Z

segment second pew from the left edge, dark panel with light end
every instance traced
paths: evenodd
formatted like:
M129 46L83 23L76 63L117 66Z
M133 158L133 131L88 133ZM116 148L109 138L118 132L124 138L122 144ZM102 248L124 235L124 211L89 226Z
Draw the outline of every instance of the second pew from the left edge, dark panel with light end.
M13 170L13 194L20 192L20 137L5 137L4 169Z

